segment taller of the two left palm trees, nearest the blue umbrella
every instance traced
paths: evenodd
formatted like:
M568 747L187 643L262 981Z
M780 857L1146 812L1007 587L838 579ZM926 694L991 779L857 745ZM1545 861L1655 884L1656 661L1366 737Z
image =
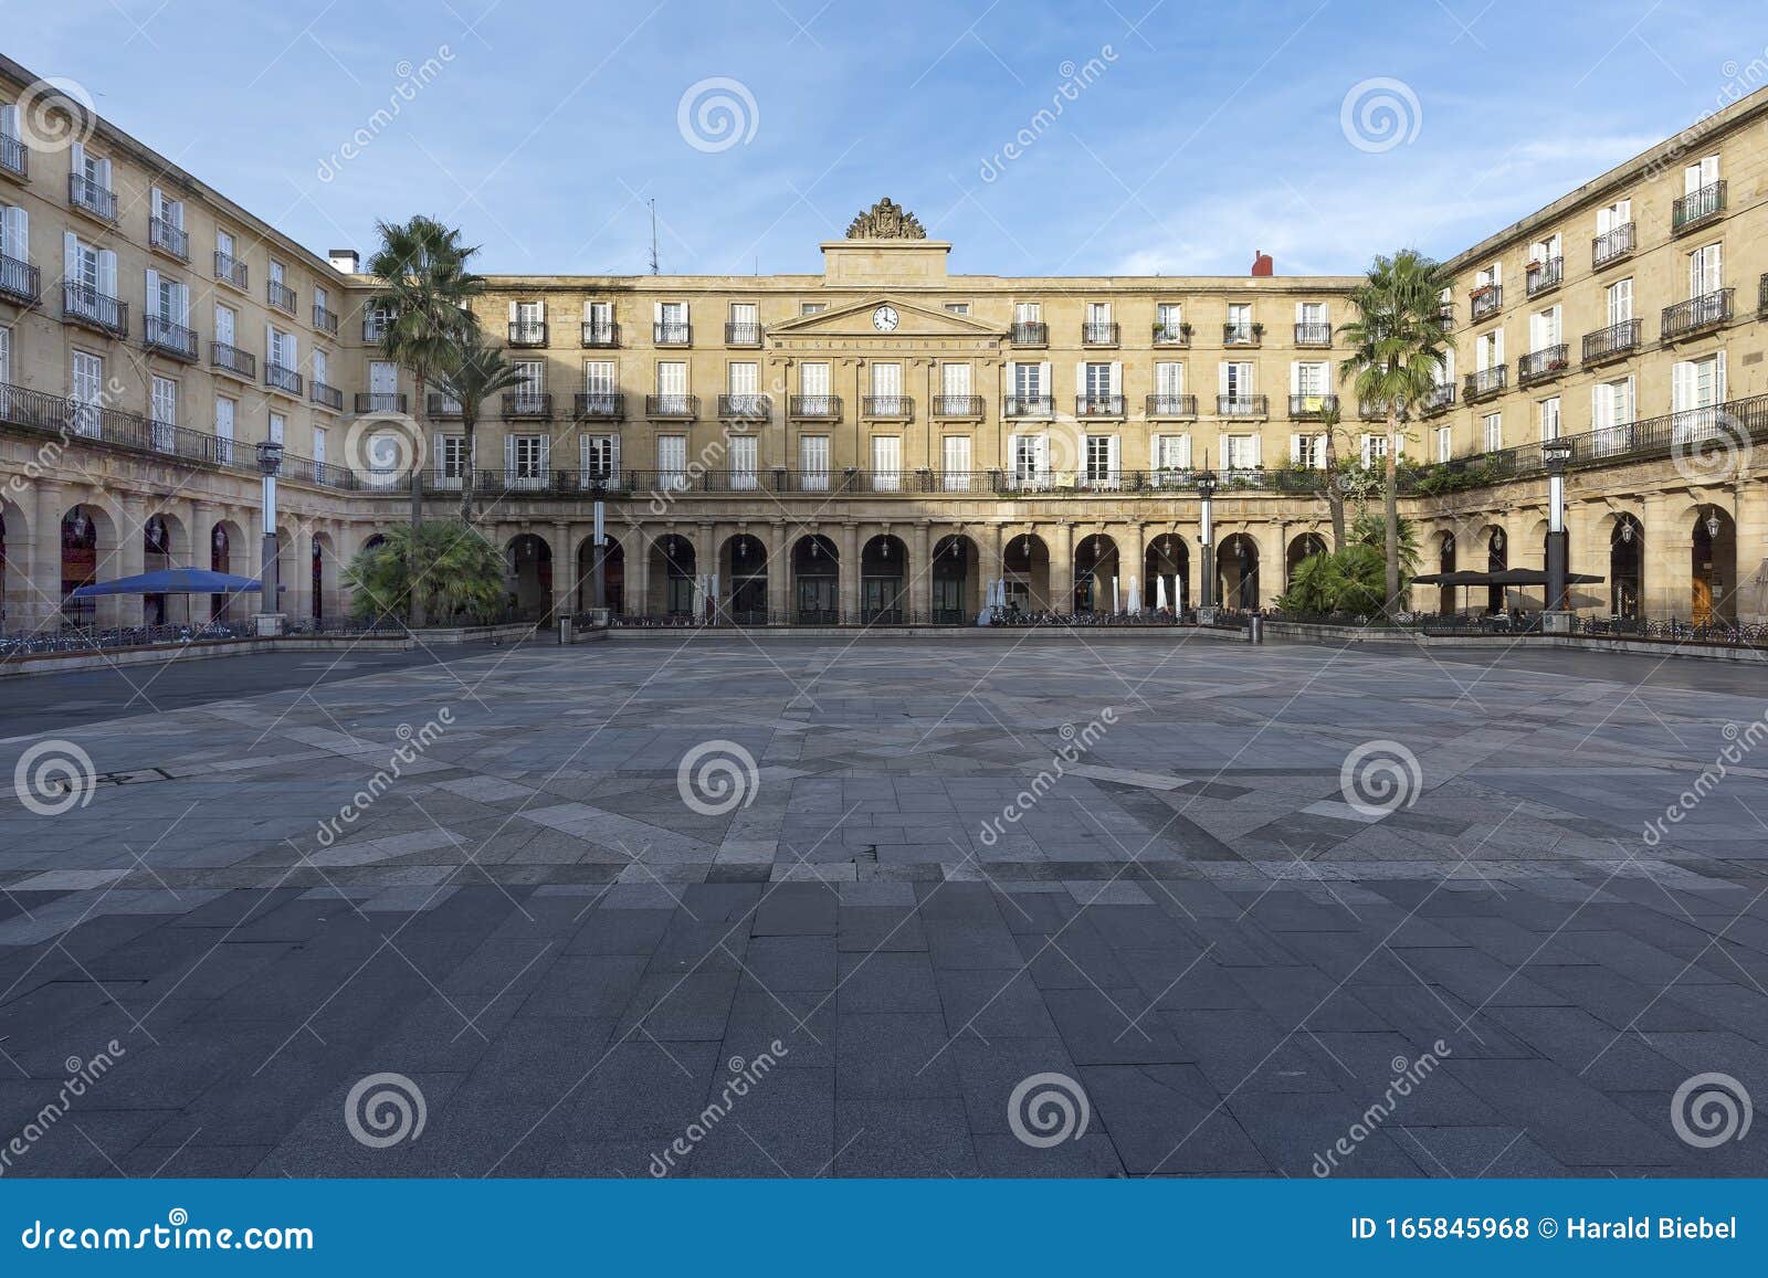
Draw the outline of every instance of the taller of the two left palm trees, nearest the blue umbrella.
M435 373L449 366L461 339L477 327L470 300L484 290L484 278L467 270L467 262L477 249L460 242L460 232L449 230L435 217L415 216L410 221L377 223L380 247L368 258L368 270L378 278L378 286L368 306L385 322L380 329L380 354L412 369L417 403L412 417L417 421L417 447L428 442L424 431L424 387ZM419 453L417 467L423 468ZM419 484L412 484L412 523L423 518ZM412 539L415 553L417 541ZM412 567L415 573L415 566ZM412 594L410 624L421 626L424 599Z

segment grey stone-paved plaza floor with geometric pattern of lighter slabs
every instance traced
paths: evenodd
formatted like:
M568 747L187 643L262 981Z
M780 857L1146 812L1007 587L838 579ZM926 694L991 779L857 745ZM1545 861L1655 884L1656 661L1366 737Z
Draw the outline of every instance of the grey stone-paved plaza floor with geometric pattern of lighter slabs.
M0 682L0 1170L1763 1175L1764 691L1034 631Z

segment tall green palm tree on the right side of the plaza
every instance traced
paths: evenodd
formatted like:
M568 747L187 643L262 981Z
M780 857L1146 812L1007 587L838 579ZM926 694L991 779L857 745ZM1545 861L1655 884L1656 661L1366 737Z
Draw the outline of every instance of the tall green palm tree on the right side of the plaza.
M1338 378L1351 382L1361 403L1376 405L1388 424L1384 458L1386 488L1386 610L1400 597L1398 546L1398 453L1402 422L1420 405L1448 366L1455 345L1443 323L1443 290L1453 276L1416 249L1391 258L1377 256L1368 276L1351 293L1354 318L1340 331L1351 354L1338 364Z

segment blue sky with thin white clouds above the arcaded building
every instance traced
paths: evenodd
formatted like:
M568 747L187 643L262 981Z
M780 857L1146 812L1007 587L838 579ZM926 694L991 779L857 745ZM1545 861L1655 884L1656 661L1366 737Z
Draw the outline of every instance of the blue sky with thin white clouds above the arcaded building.
M815 272L889 194L955 272L1241 274L1262 247L1349 274L1467 247L1692 124L1768 74L1768 9L57 0L5 53L320 253L428 212L484 270L633 274L654 198L665 272ZM1354 99L1398 104L1397 145L1349 140L1365 81L1398 81Z

